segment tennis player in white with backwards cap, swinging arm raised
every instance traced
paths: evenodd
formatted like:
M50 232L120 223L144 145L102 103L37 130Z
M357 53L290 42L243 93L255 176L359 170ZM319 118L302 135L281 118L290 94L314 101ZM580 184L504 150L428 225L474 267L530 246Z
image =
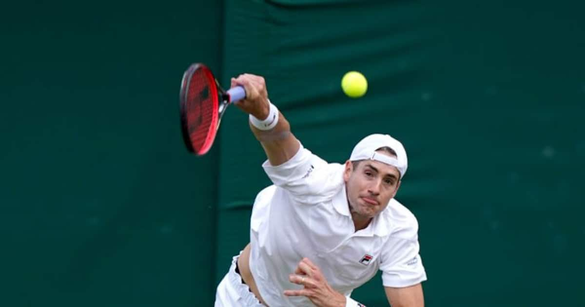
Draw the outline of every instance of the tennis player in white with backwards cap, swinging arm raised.
M363 306L350 297L378 270L393 307L424 306L417 219L394 199L407 170L400 142L371 134L345 164L305 149L268 99L264 78L232 78L274 183L260 191L250 243L233 257L215 306Z

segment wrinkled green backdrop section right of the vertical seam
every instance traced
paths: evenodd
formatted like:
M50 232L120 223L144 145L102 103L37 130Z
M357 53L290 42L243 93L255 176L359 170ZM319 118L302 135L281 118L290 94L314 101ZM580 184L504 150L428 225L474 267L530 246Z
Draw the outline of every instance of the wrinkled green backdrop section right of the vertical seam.
M227 1L223 83L264 75L292 131L328 161L369 133L402 140L397 199L419 220L429 306L575 305L585 24L568 3ZM349 70L369 80L362 99L340 91ZM270 184L246 115L222 125L218 278ZM379 277L354 296L386 304Z

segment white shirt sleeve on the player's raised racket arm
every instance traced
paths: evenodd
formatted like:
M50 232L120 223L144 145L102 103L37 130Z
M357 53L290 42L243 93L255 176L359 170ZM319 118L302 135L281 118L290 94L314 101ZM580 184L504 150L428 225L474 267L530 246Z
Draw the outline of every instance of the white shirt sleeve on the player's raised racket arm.
M274 185L286 189L303 203L317 203L331 198L335 187L343 182L341 175L336 176L333 171L335 167L312 154L302 144L285 163L273 166L266 160L262 167Z

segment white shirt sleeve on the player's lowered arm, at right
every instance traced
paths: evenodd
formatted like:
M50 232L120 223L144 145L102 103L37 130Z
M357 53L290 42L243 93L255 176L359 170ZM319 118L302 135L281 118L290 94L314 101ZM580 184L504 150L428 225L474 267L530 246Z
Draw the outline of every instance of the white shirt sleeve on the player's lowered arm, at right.
M416 232L409 239L391 237L384 251L380 262L384 287L404 288L426 280Z

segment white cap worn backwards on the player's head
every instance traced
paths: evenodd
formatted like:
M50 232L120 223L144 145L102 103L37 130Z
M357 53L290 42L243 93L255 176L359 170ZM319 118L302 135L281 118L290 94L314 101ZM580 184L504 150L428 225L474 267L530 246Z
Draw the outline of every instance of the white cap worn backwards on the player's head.
M380 147L390 147L396 151L396 158L387 156L386 154L376 153L376 149ZM388 134L370 134L364 137L359 143L353 147L350 161L357 160L376 160L388 165L398 168L400 178L404 177L406 169L408 168L408 158L406 157L406 150L402 143L398 142L394 137Z

